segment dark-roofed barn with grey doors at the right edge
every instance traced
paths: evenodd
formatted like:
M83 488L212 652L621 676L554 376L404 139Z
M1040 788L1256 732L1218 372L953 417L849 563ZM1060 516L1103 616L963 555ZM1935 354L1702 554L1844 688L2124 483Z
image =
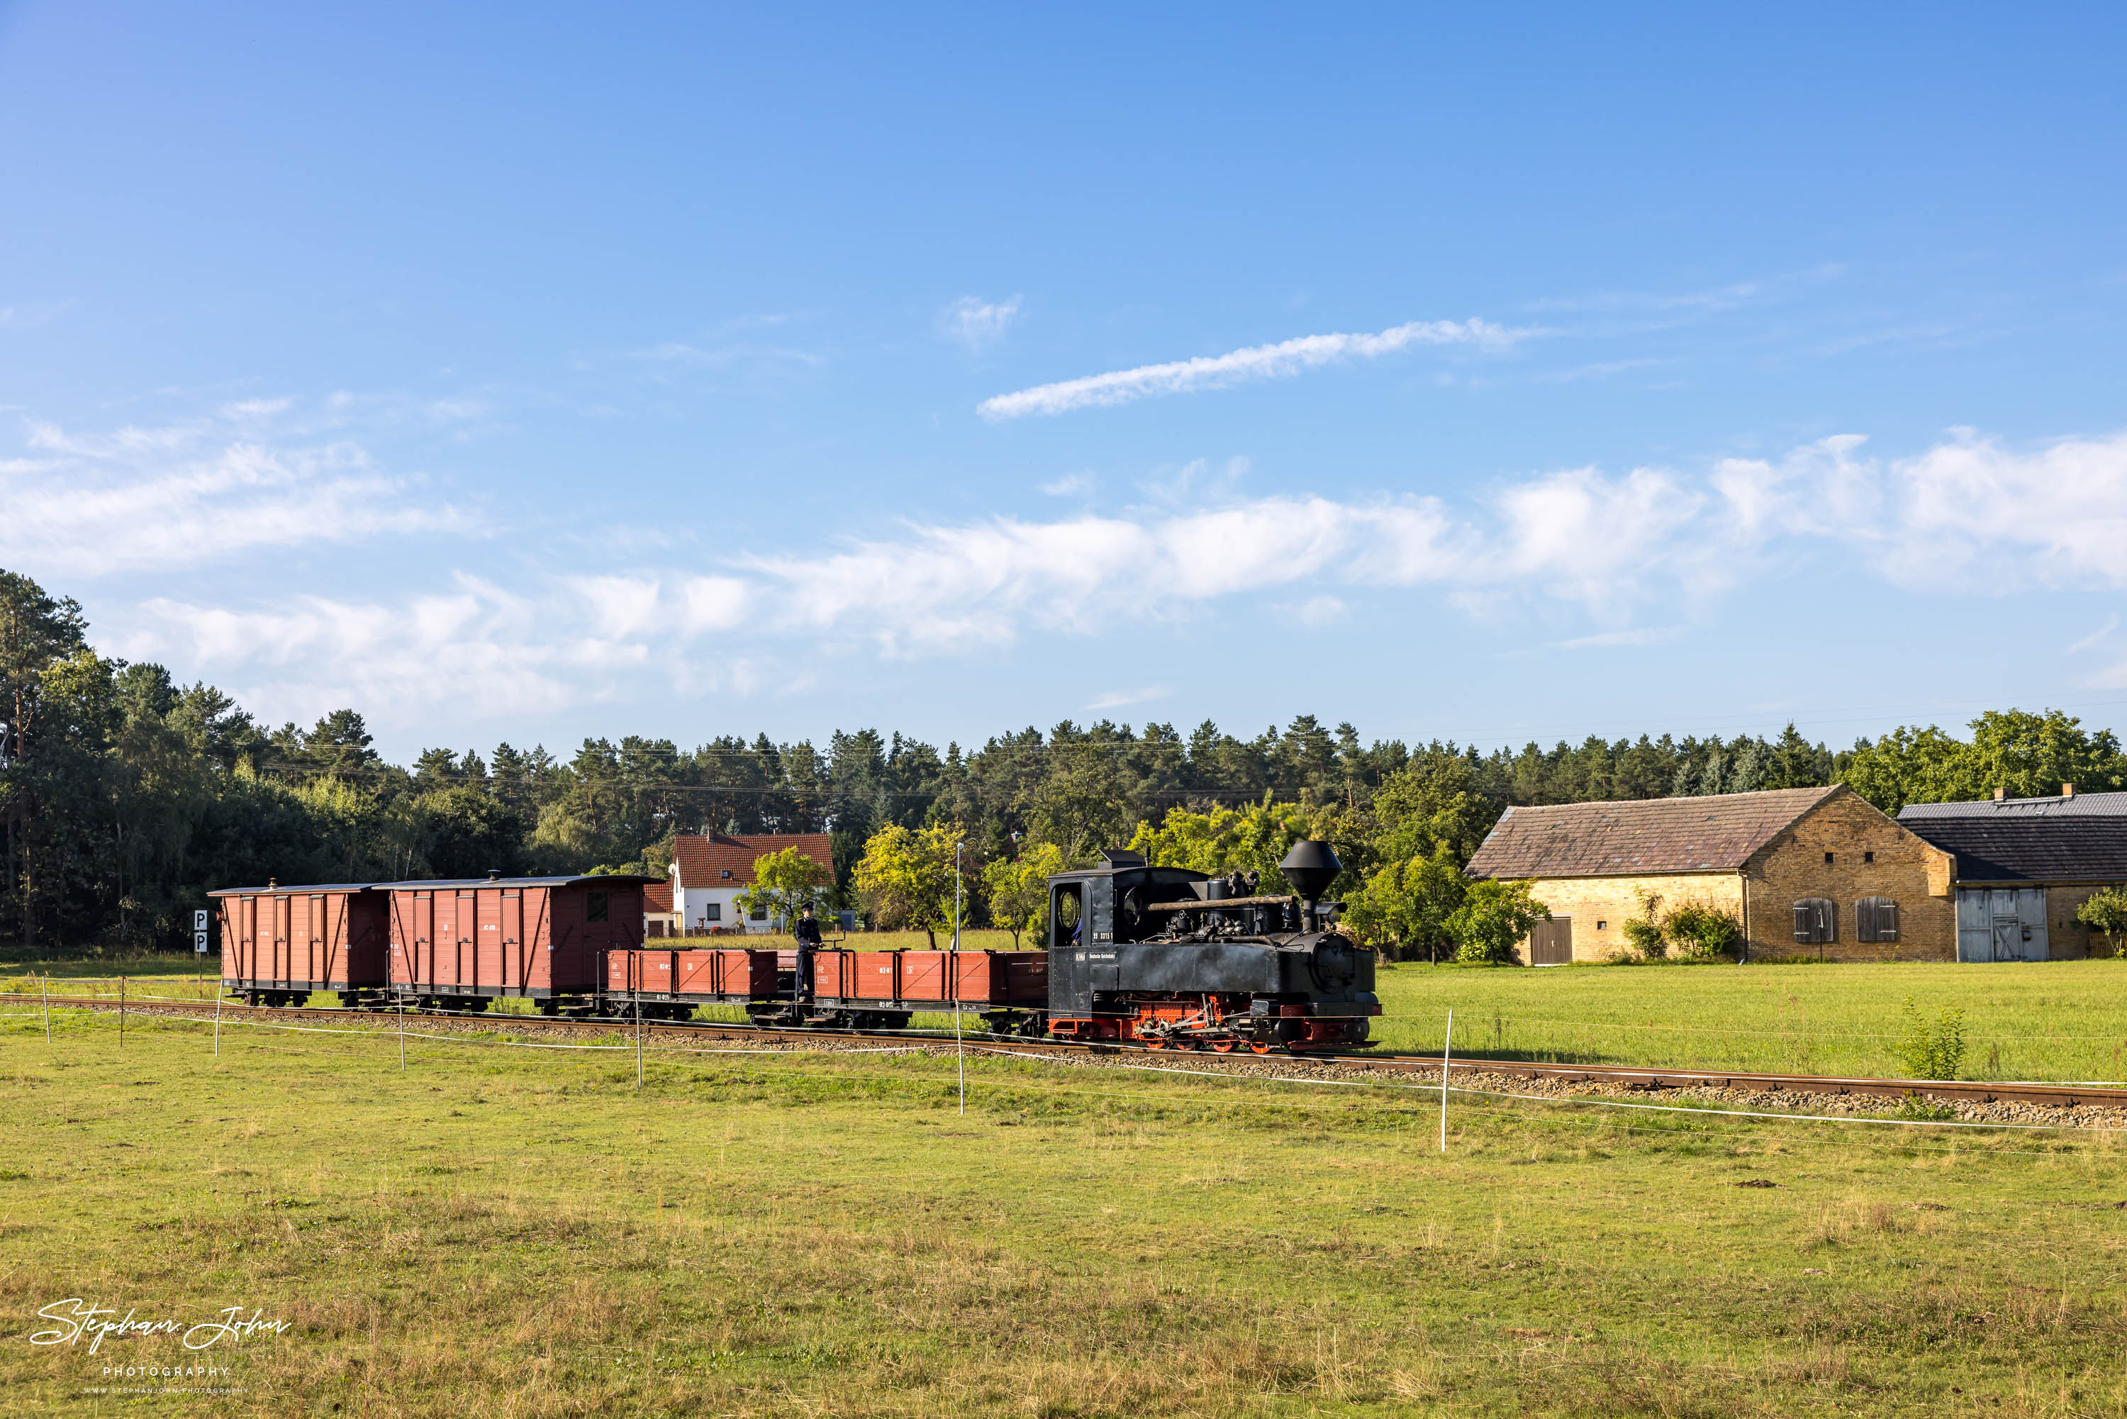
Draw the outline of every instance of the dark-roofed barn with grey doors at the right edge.
M1906 804L1897 815L1955 859L1957 959L2070 962L2110 955L2076 921L2099 887L2127 883L2127 794Z

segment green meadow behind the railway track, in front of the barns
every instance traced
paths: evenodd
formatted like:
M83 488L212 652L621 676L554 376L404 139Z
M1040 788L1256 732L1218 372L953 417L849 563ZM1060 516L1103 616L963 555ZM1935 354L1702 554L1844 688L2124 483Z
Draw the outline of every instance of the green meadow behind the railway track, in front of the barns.
M921 945L923 936L912 936ZM983 934L989 936L989 934ZM1002 934L998 934L1002 936ZM725 938L717 938L719 942ZM766 938L759 938L766 940ZM853 940L885 942L885 934ZM981 945L989 945L987 940ZM36 966L0 966L0 989L36 994ZM60 991L117 994L117 974L49 964ZM128 989L211 998L191 957L130 962ZM1908 998L1936 1019L1963 1011L1965 1079L2127 1081L2127 962L2004 966L1383 966L1385 1049L1438 1051L1455 1011L1457 1053L1797 1074L1899 1076ZM313 1004L330 1004L330 996ZM530 1008L506 1002L506 1008ZM710 1019L742 1019L736 1006ZM951 1015L921 1015L951 1028Z

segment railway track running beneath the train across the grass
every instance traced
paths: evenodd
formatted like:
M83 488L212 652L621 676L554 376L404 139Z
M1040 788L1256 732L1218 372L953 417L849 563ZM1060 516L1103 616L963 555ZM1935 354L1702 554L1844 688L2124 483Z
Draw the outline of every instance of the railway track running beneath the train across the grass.
M34 1004L38 996L6 996L6 1000L17 1004ZM96 1008L96 1011L119 1011L119 1000L113 996L51 996L49 1004L68 1008ZM123 1008L128 1013L140 1015L213 1015L213 1002L183 1002L183 1000L125 1000ZM362 1021L391 1021L396 1019L387 1011L340 1011L321 1006L251 1006L240 1002L221 1002L223 1019L230 1017L251 1017L251 1019L362 1019ZM434 1025L457 1025L476 1030L525 1030L525 1032L547 1032L547 1034L627 1034L634 1038L638 1025L627 1019L549 1019L545 1015L411 1015L408 1021L419 1021L423 1028ZM723 1040L759 1040L759 1042L793 1042L793 1040L851 1040L851 1038L876 1038L876 1040L902 1040L910 1045L951 1045L951 1034L927 1034L927 1032L891 1032L891 1030L764 1030L757 1025L727 1025L715 1021L642 1021L640 1032L644 1038L723 1038ZM1151 1051L1129 1045L1083 1045L1076 1040L1027 1040L1019 1036L989 1036L972 1034L970 1040L981 1040L985 1045L1010 1045L1015 1051L1025 1053L1051 1053L1051 1055L1142 1055L1146 1059L1174 1059L1178 1051ZM1183 1051L1180 1057L1193 1057L1193 1053ZM1255 1055L1238 1055L1244 1059L1257 1059ZM1272 1055L1276 1059L1276 1055ZM1346 1068L1366 1070L1391 1070L1406 1074L1438 1074L1440 1055L1385 1055L1385 1053L1308 1053L1300 1055L1308 1064L1334 1064ZM1950 1102L1974 1102L1974 1104L2044 1104L2055 1108L2074 1108L2078 1104L2095 1104L2108 1108L2127 1108L2127 1089L2104 1087L2104 1085L2074 1085L2074 1083L1987 1083L1987 1081L1912 1081L1912 1079L1848 1079L1833 1074L1755 1074L1740 1070L1685 1070L1685 1068L1644 1068L1627 1064L1542 1064L1529 1059L1491 1059L1483 1055L1455 1055L1448 1062L1451 1076L1455 1070L1468 1070L1470 1074L1506 1074L1517 1079L1548 1079L1559 1083L1595 1083L1612 1085L1619 1089L1744 1089L1755 1094L1829 1094L1829 1096L1863 1096L1863 1098L1889 1098L1897 1100L1908 1094L1921 1094L1925 1098L1950 1100Z

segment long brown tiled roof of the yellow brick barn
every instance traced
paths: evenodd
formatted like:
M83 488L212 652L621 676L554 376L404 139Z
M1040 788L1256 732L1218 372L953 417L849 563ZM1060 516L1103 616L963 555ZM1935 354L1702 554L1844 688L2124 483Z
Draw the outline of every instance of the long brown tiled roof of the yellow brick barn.
M1768 789L1704 798L1508 808L1470 859L1470 877L1623 877L1731 872L1827 798L1827 789Z

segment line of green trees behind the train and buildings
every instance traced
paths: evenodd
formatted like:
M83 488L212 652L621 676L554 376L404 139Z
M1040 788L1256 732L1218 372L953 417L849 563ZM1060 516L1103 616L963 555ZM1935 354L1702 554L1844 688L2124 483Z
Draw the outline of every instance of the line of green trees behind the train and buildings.
M270 879L661 877L674 838L691 832L832 834L832 894L891 915L915 898L868 891L857 870L895 830L904 845L964 842L966 874L983 883L978 919L1000 923L1019 900L1012 872L1087 862L1100 847L1276 881L1291 840L1321 836L1346 866L1336 889L1357 930L1440 953L1493 930L1476 921L1485 911L1510 906L1487 906L1489 889L1472 898L1461 881L1510 804L1850 783L1895 813L1997 785L2053 794L2063 781L2123 787L2127 757L2110 730L2059 711L1991 711L1970 738L1899 728L1842 751L1793 725L1774 738L1480 751L1368 742L1351 723L1300 715L1253 736L1212 721L1185 732L1066 719L942 751L838 730L825 745L587 738L566 759L545 745L436 747L398 766L355 708L311 728L259 723L213 685L100 655L74 600L0 570L0 940L28 949L177 947L206 891Z

